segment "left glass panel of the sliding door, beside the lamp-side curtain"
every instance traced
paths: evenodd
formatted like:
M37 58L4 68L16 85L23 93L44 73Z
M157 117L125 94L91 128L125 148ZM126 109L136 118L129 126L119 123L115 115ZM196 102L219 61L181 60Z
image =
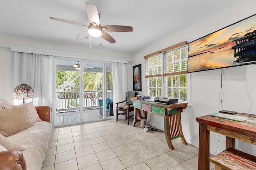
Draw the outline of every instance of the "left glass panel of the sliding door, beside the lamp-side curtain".
M56 115L54 125L80 122L79 61L56 60Z

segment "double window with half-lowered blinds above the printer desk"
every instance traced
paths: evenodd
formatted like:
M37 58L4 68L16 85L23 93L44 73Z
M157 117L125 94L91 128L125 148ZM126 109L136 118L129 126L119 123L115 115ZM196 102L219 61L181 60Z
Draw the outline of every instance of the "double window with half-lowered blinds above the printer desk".
M144 57L148 95L187 101L187 48L182 42Z

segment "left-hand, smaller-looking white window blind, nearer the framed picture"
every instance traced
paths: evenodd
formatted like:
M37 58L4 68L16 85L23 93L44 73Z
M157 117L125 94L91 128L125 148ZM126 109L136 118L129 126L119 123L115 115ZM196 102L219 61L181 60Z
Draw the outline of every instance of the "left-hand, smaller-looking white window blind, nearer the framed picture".
M162 76L162 55L160 51L144 56L146 59L146 78Z

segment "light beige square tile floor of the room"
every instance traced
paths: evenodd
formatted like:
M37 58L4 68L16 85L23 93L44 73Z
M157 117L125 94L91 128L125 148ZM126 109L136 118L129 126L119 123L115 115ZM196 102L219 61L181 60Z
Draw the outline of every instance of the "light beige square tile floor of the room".
M164 132L145 132L127 120L60 127L52 132L41 170L197 170L198 148L180 139L172 143L174 150Z

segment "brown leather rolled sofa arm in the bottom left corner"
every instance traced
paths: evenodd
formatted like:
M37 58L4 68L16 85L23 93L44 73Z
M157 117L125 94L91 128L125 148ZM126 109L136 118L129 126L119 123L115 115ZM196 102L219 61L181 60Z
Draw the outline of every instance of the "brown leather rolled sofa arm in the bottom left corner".
M26 170L26 161L22 152L6 150L0 152L0 170Z

